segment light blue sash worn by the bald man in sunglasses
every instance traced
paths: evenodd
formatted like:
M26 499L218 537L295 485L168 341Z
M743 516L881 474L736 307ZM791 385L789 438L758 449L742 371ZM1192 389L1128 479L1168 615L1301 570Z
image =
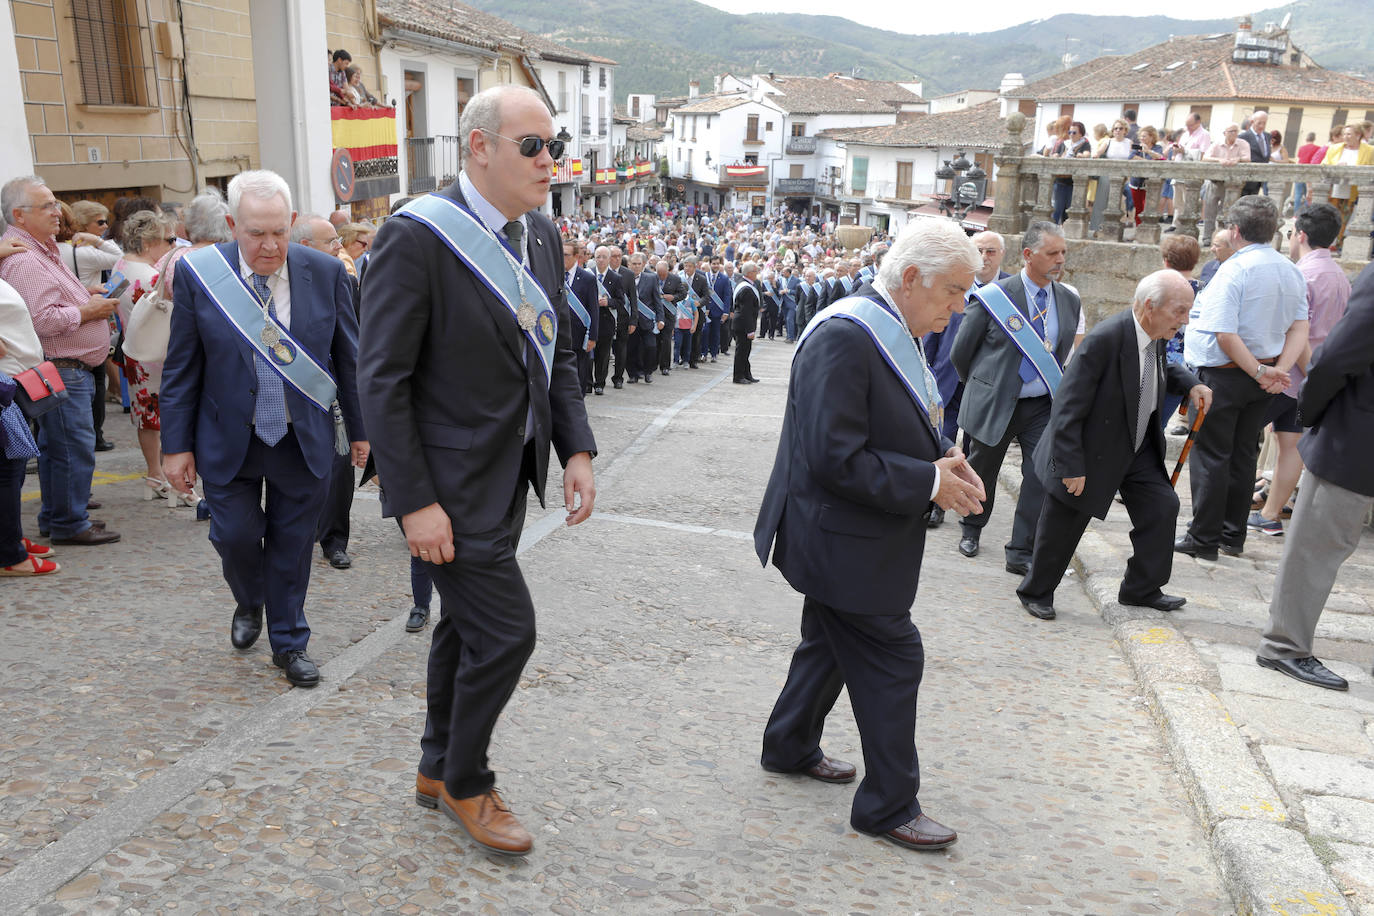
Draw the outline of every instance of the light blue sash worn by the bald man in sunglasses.
M515 282L510 262L503 251L508 251L496 233L458 201L441 194L426 194L415 198L396 211L426 225L448 246L448 250L458 255L492 291L502 305L510 309L511 320L519 324L517 309L521 305L521 284ZM519 258L517 258L519 261ZM534 327L523 331L529 342L539 353L540 365L544 369L544 385L552 383L554 347L558 342L558 312L548 304L548 295L539 280L526 268L521 268L525 275L525 290L529 305L534 308Z

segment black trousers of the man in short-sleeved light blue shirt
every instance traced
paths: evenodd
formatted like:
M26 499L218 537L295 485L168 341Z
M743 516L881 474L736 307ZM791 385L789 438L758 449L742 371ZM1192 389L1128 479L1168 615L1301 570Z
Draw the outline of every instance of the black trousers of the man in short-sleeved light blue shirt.
M1198 547L1245 545L1246 519L1254 497L1260 430L1274 396L1245 369L1198 369L1212 389L1212 409L1193 437L1189 485L1193 522L1189 534Z

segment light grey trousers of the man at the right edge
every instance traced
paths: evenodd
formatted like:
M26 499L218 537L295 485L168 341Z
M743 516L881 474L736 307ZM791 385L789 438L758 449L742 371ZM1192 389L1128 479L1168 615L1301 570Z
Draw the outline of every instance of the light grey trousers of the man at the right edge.
M1307 658L1316 621L1336 585L1341 563L1360 545L1364 516L1374 497L1303 471L1293 519L1283 529L1283 558L1270 599L1270 625L1259 654Z

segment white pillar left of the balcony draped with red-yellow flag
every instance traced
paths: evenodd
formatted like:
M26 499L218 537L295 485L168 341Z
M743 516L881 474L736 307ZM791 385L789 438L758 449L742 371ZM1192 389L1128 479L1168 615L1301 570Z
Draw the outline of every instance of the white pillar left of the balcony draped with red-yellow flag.
M324 0L249 0L258 155L301 213L334 209ZM354 49L357 52L360 49Z

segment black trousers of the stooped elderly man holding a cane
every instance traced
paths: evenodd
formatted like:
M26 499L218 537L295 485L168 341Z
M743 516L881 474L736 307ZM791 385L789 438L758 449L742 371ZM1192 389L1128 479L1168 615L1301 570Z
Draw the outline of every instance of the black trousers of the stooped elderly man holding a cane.
M1062 488L1063 482L1055 479L1047 486ZM1117 489L1131 516L1131 559L1125 563L1117 596L1125 604L1143 604L1157 599L1173 574L1173 527L1179 520L1179 497L1164 475L1164 464L1149 435ZM1017 586L1017 595L1037 604L1054 604L1054 591L1063 581L1091 519L1088 512L1046 494L1030 571Z

